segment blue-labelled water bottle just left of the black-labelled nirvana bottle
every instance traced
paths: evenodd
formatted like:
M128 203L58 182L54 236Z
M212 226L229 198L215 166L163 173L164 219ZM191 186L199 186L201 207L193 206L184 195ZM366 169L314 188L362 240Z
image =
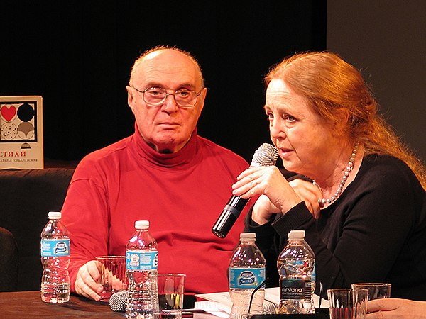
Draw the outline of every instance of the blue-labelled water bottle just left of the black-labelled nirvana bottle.
M255 233L241 233L239 245L232 252L229 262L229 296L232 301L230 319L249 318L262 313L265 298L265 257L256 246ZM253 301L250 299L253 291Z

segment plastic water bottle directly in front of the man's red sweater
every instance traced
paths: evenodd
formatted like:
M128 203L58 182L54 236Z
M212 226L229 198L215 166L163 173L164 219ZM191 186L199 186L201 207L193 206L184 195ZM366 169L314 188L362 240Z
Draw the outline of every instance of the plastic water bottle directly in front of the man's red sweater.
M148 232L148 220L138 220L126 245L128 288L126 318L154 318L158 313L158 245Z

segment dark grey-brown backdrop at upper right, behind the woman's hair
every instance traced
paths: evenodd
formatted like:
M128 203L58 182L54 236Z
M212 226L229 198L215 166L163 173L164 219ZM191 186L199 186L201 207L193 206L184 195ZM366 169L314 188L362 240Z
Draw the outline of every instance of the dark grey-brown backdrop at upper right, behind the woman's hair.
M426 160L426 1L327 0L327 50L361 69L380 113Z

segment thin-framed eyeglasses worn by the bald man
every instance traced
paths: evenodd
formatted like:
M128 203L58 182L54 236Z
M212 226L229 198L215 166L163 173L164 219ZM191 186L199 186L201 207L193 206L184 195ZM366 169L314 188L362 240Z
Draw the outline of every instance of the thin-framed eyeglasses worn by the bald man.
M200 89L198 93L188 89L178 89L175 90L174 93L167 93L162 87L147 87L143 91L136 89L134 86L131 87L139 93L142 93L143 101L150 106L160 106L169 95L173 95L176 104L181 108L192 108L195 106L198 96L200 96L202 89L204 89Z

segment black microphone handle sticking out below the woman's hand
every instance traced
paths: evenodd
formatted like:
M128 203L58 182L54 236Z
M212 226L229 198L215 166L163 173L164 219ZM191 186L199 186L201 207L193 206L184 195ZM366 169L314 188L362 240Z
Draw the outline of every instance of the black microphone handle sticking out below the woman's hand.
M228 204L224 207L224 210L217 218L216 223L212 227L212 232L217 237L224 238L228 235L229 230L231 230L232 225L236 222L236 218L243 211L244 206L249 201L248 198L241 198L241 196L231 196L229 198Z

